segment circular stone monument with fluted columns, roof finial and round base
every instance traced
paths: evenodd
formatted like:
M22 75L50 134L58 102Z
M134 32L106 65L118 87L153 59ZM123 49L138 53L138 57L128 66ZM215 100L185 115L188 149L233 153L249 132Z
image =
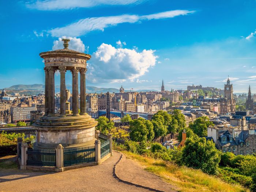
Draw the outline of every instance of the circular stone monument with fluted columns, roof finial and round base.
M97 121L86 113L86 65L89 54L68 49L39 54L45 63L45 114L33 126L36 130L34 149L53 149L61 144L64 148L94 145ZM55 112L54 73L60 71L60 113ZM69 109L69 90L65 89L65 73L72 72L72 113ZM80 73L80 113L78 103L78 73Z

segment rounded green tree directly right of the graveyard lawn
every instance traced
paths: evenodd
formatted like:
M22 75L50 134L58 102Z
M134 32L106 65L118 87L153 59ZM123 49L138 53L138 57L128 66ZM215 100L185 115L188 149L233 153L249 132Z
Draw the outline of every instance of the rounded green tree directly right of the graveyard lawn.
M136 142L152 141L155 133L153 124L149 120L138 118L130 121L130 137L131 140Z

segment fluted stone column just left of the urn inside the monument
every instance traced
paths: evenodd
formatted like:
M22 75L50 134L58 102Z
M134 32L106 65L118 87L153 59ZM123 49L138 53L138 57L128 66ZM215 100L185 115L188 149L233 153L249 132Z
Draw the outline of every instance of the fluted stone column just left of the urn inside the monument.
M66 116L66 109L65 109L65 95L66 95L66 89L65 89L65 73L66 73L66 67L59 67L60 70L60 116L65 117Z

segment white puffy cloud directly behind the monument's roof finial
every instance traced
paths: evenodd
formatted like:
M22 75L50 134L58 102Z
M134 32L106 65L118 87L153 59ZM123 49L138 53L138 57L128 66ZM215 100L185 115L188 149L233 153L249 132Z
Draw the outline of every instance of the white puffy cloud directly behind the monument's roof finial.
M65 38L70 39L70 42L68 43L69 44L69 46L68 46L69 49L76 50L76 51L79 51L79 52L84 52L86 50L88 52L89 46L85 46L83 44L83 41L80 38L66 37L66 36L63 36L63 37L59 38L56 41L53 41L52 50L63 49L64 48L63 41L61 40L63 38L64 39Z

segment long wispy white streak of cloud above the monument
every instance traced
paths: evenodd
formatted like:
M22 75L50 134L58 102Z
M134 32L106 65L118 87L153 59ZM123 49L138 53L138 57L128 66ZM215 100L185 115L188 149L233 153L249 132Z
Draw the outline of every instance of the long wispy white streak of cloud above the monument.
M57 27L48 31L53 37L61 37L63 35L77 37L94 30L104 31L105 28L116 26L120 23L135 23L141 20L173 18L174 16L187 15L194 11L173 10L161 12L152 15L118 15L106 17L93 17L80 19L78 22L71 23L64 27Z

